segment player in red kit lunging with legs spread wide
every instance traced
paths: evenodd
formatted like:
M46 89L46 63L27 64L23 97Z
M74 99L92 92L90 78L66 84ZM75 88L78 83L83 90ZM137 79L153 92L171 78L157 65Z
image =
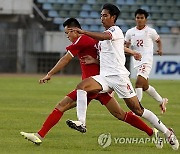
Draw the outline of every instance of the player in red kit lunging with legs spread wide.
M90 38L89 36L79 34L76 31L68 30L68 28L71 27L81 28L79 22L74 18L67 19L64 22L63 26L65 27L67 38L72 42L72 44L66 48L67 53L65 54L65 56L63 56L57 62L57 64L47 73L45 77L40 79L40 83L46 83L46 81L50 80L53 74L62 70L62 68L64 68L75 56L78 56L78 58L80 59L82 79L99 74L99 60L97 59L97 49L95 48L95 44L97 41ZM91 61L93 61L91 62L91 64L87 64L89 63L89 61L87 60L88 57L93 57L93 60L91 58ZM67 96L65 96L64 99L62 99L56 105L55 109L47 117L42 128L37 133L21 132L21 135L37 145L41 144L45 135L54 125L58 123L58 121L62 118L64 112L76 106L76 94L76 90L73 90ZM106 108L114 117L142 131L145 131L149 136L155 135L156 139L159 140L157 130L153 130L148 127L141 119L139 119L139 117L132 114L132 112L124 112L120 108L119 103L108 93L89 93L87 96L87 103L89 103L92 99L99 100L101 104L106 106Z

